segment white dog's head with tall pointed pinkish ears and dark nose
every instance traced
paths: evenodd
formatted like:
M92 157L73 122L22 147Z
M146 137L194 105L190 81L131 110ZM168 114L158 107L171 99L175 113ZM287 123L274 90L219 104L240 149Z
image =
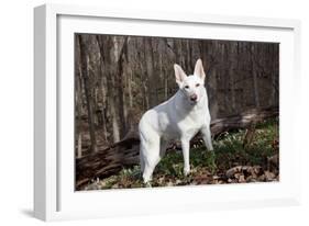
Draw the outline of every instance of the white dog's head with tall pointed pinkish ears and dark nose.
M187 76L177 64L174 65L174 69L179 89L185 93L191 104L197 103L206 93L205 71L201 59L197 60L194 75Z

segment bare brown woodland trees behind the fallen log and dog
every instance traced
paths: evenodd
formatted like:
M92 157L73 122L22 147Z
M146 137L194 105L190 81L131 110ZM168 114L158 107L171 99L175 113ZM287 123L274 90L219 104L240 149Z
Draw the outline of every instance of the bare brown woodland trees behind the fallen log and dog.
M278 105L278 53L275 43L76 34L77 157L121 140L170 98L175 63L190 75L202 59L212 120Z

